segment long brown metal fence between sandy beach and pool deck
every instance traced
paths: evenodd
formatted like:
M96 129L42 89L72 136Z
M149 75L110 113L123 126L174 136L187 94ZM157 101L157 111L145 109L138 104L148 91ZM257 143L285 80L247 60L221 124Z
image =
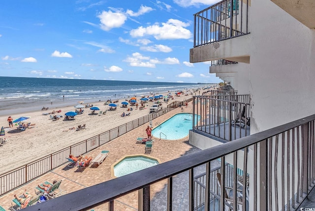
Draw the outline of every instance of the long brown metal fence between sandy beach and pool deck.
M186 101L191 100L192 98ZM166 108L163 108L158 112L151 113L144 117L130 121L114 129L98 134L92 138L86 139L63 150L41 157L31 163L0 175L0 196L63 165L67 162L66 157L68 157L69 154L84 154L92 151L95 148L98 148L99 146L114 140L115 138L135 129L138 126L156 119L159 116L172 111L183 104L184 102L182 101L172 102Z

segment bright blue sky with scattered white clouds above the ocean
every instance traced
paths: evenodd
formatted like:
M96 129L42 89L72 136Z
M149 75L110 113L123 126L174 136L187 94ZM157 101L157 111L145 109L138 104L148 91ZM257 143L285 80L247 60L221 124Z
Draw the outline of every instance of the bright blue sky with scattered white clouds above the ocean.
M217 1L2 1L0 75L221 82L189 63L193 14Z

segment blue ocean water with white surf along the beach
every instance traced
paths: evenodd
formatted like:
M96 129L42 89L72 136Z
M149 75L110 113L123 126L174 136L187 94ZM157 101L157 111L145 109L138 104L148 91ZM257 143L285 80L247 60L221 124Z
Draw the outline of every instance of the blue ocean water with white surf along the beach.
M22 108L37 110L43 106L67 106L78 101L89 103L205 86L169 82L0 77L0 115Z

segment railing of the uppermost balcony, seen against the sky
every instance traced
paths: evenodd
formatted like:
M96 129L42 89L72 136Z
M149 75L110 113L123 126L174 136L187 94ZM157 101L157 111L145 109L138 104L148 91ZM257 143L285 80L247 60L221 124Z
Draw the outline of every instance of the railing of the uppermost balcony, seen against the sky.
M248 34L249 0L222 0L194 14L194 47Z

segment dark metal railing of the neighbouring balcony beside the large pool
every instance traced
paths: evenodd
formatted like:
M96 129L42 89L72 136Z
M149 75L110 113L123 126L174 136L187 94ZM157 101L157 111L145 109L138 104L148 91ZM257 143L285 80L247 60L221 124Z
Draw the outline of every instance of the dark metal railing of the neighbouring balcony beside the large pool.
M194 131L232 141L250 135L250 96L193 96Z

